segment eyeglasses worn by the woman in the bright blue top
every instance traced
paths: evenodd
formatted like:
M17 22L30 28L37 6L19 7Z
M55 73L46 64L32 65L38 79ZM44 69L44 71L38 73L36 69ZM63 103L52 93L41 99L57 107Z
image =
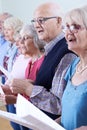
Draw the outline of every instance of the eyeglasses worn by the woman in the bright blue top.
M62 27L63 32L65 33L67 30L71 31L72 33L77 33L79 30L84 29L85 27L78 25L78 24L73 24L73 25L66 25Z

